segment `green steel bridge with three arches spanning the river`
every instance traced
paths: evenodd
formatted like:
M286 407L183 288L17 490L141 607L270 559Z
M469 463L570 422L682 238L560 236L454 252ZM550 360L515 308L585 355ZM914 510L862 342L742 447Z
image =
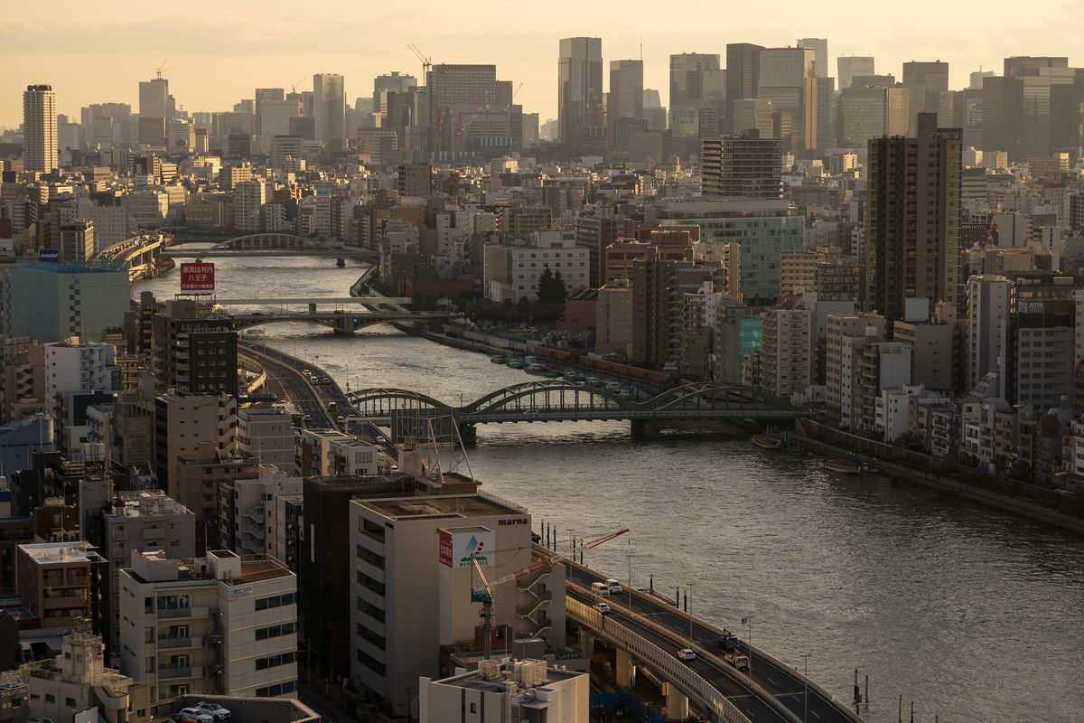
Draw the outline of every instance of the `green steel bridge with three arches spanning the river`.
M397 423L408 417L450 418L468 437L475 425L507 422L630 421L636 429L637 423L648 422L786 422L808 416L808 410L783 399L724 382L696 382L637 399L631 391L545 379L498 389L462 406L406 389L361 389L349 397L360 416L390 424L396 437Z

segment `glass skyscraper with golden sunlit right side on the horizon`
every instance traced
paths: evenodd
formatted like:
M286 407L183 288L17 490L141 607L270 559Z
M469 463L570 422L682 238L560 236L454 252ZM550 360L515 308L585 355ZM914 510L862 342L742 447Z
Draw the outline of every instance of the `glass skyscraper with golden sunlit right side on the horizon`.
M809 48L764 48L760 51L757 98L772 101L776 113L789 113L791 143L784 133L784 152L801 153L816 149L817 85L816 56Z

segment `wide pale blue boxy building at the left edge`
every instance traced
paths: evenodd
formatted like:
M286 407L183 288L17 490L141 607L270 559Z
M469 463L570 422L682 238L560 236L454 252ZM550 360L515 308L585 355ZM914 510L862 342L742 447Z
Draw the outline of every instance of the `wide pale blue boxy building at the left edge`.
M60 341L101 340L121 326L129 308L128 262L95 259L85 264L18 261L5 264L4 337Z

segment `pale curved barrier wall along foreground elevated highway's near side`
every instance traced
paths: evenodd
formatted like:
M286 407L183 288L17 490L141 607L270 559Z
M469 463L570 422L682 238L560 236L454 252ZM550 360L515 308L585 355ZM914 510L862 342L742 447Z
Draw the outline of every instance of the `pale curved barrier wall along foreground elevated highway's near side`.
M676 685L686 695L708 708L718 720L723 723L751 723L715 686L679 660L672 653L663 650L642 635L619 622L607 619L598 610L572 597L565 599L565 610L572 620L602 634L621 649L633 654L650 666L653 670Z

